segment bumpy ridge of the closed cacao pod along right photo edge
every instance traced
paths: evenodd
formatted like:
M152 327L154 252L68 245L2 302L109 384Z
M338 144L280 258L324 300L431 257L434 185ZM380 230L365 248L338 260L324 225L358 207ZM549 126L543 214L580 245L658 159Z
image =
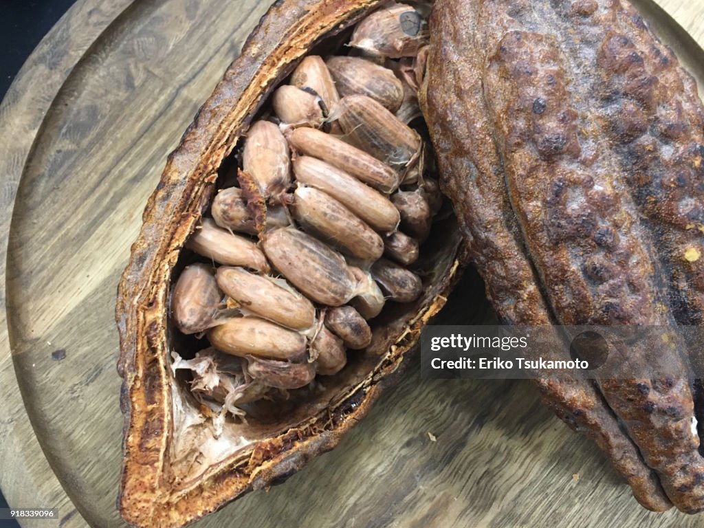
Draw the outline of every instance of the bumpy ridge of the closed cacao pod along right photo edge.
M620 170L634 187L639 212L652 226L657 257L667 277L672 315L681 325L701 325L704 322L704 267L700 258L704 188L700 180L704 172L704 108L695 80L679 68L677 58L667 46L641 35L645 28L636 13L626 6L617 22L636 36L627 38L623 31L614 31L608 39L603 39L598 58L603 70L593 80L593 87L604 101L601 124L620 155ZM629 77L643 82L628 82ZM608 96L615 90L636 99L630 105L627 119L617 115L617 106ZM665 229L658 229L661 225ZM693 360L702 365L704 353L700 346L694 344L689 350ZM701 380L691 390L701 437L704 432ZM701 484L704 474L695 474L693 480Z

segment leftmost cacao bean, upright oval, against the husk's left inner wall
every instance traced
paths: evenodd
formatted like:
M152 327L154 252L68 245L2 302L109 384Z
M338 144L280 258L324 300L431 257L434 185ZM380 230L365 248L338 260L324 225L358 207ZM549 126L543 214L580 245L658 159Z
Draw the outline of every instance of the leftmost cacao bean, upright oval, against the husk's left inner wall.
M197 334L217 324L222 293L213 267L191 264L184 268L171 294L174 325L184 334Z

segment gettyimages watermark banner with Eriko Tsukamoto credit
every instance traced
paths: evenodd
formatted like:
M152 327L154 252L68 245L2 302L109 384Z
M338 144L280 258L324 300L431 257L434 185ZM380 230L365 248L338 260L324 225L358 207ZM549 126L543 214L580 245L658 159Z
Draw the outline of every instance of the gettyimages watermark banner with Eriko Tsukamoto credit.
M428 378L704 377L703 327L434 326L421 337Z

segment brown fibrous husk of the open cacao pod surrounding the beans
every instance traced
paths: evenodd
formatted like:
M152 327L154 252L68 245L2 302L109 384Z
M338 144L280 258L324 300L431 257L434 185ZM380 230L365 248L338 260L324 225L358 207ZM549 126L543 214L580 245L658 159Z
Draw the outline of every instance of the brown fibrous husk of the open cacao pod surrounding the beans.
M213 198L218 168L301 58L381 4L277 2L168 158L118 288L125 415L119 506L130 524L182 526L288 477L332 449L398 377L420 330L443 306L463 268L465 246L455 221L436 223L416 268L423 277L422 296L384 308L365 351L326 377L322 391L296 394L291 405L272 408L267 420L225 422L216 435L203 422L207 410L172 372L177 332L168 314L170 287L185 264L182 248Z

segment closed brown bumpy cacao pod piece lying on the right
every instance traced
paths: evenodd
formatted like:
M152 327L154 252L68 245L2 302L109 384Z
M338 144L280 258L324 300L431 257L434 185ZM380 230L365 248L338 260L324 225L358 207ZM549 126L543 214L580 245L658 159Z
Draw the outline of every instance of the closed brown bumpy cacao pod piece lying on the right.
M620 0L438 0L430 30L422 108L497 315L699 325L704 106L641 15ZM650 510L704 510L685 348L658 351L672 377L537 380ZM632 346L624 364L647 358Z

